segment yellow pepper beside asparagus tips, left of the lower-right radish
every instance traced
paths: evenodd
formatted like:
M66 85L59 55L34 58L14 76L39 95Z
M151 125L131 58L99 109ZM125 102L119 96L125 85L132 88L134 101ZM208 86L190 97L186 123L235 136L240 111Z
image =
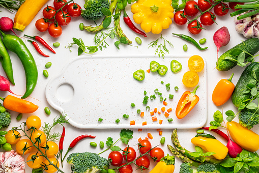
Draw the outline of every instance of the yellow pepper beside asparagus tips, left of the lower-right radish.
M214 152L213 154L216 159L222 160L226 157L228 149L219 140L207 138L207 137L193 137L191 142L195 146L201 147L206 152Z

